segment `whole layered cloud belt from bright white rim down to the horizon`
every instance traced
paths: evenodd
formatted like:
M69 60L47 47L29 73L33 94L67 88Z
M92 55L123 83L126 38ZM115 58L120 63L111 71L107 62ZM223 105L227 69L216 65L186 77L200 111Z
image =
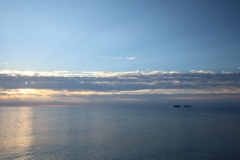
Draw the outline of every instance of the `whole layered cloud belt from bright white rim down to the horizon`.
M1 105L239 103L240 73L0 71Z

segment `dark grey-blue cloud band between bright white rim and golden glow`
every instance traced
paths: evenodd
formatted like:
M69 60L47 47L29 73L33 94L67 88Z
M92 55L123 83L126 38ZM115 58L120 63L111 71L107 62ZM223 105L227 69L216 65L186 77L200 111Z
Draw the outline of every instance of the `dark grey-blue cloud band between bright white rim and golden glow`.
M239 89L240 73L127 74L109 77L0 75L2 89L131 91L142 89Z

